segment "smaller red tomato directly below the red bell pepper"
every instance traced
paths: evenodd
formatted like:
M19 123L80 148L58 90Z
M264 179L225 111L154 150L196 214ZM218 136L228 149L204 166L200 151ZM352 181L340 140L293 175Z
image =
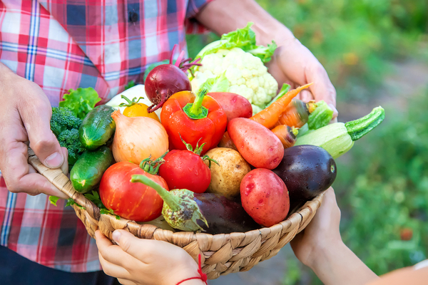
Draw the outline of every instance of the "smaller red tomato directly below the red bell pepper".
M187 189L203 193L211 182L211 172L202 158L190 150L171 150L163 158L159 175L170 189Z

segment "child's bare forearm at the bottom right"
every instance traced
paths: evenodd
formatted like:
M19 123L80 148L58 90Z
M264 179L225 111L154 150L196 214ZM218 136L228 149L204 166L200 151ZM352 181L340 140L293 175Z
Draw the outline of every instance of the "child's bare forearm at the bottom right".
M342 242L320 249L307 265L326 285L363 285L379 278Z

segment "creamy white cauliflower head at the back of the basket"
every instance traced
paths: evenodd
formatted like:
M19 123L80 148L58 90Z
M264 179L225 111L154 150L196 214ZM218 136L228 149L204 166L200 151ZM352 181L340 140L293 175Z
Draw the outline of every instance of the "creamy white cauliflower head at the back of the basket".
M266 103L275 97L278 83L262 60L241 48L220 49L203 57L202 66L190 81L193 91L209 78L225 75L229 81L227 92L237 93L247 98L253 105L253 113L265 108Z

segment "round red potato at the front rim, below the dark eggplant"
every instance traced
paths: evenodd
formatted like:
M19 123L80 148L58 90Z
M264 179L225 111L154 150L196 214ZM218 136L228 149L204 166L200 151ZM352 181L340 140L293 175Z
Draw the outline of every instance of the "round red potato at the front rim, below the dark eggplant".
M263 227L282 222L290 210L287 186L278 175L264 168L244 176L240 195L245 212Z

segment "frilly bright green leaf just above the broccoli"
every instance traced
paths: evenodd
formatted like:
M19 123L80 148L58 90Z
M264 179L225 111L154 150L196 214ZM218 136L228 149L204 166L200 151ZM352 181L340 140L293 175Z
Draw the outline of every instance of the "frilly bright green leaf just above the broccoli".
M77 118L83 119L99 101L101 98L93 88L77 88L77 90L68 90L68 94L63 95L63 101L59 103L59 106L68 108Z

